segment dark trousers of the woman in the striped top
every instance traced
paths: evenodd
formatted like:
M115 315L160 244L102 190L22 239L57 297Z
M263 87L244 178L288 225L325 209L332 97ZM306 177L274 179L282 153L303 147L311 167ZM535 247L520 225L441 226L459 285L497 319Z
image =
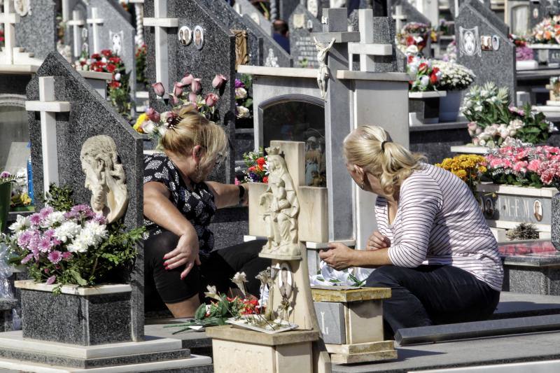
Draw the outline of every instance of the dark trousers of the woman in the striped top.
M366 285L391 288L391 299L383 301L383 318L391 328L385 335L391 339L400 328L488 318L500 300L499 291L451 265L387 265L375 269Z

